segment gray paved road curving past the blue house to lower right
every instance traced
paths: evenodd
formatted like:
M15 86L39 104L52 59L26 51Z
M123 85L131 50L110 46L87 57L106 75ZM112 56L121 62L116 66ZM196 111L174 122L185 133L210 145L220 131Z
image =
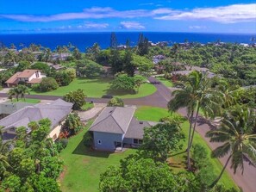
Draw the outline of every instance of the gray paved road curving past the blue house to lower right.
M156 78L149 77L148 80L154 84L157 88L157 91L151 95L141 98L134 98L134 99L124 99L123 101L127 105L139 105L139 106L153 106L159 108L166 108L167 103L170 101L171 97L171 90L165 87L164 84L161 84ZM155 84L157 83L157 84ZM0 93L0 97L6 97L7 94ZM61 96L26 96L27 98L35 98L41 100L55 100L61 98ZM109 102L109 99L103 98L87 98L86 101L90 102L99 102L99 103L106 103ZM186 110L184 108L178 110L178 113L181 115L186 116ZM197 123L197 133L199 133L203 139L206 140L209 147L211 149L215 149L217 146L220 146L219 143L211 143L209 142L209 138L205 137L205 133L210 130L208 124L205 123ZM228 157L220 158L222 164L225 164ZM237 183L240 188L243 189L244 192L253 192L256 191L256 168L249 164L249 162L245 162L244 164L244 173L242 175L241 171L238 169L236 174L234 174L233 170L230 169L230 165L227 167L227 171L230 176L234 179L234 182Z

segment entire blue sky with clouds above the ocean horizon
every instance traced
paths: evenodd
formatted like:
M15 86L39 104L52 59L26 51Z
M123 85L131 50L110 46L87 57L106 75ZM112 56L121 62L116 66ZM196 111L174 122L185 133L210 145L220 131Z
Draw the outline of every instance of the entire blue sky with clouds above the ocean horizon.
M0 33L256 33L252 0L1 0Z

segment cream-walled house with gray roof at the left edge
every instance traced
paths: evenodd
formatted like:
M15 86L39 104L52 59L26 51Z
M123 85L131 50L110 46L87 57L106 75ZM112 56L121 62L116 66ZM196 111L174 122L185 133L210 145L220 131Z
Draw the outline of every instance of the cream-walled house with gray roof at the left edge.
M3 127L1 130L2 138L3 140L14 139L17 127L27 127L27 133L30 133L31 130L28 128L29 122L48 118L52 122L49 137L55 140L59 137L61 127L67 115L72 112L72 105L72 102L58 99L47 104L38 103L34 106L21 108L0 120L0 126Z

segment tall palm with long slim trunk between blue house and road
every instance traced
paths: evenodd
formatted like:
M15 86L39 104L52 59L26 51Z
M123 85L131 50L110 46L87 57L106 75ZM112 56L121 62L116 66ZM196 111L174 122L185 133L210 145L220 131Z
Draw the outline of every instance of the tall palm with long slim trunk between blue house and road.
M177 111L178 108L187 108L188 119L190 121L187 158L188 169L190 170L190 148L194 139L197 126L197 119L200 108L208 115L215 115L219 110L220 98L216 94L217 90L211 88L211 82L206 75L199 71L192 71L187 81L183 84L184 89L175 90L172 93L173 99L168 102L169 111ZM194 125L193 119L195 117Z

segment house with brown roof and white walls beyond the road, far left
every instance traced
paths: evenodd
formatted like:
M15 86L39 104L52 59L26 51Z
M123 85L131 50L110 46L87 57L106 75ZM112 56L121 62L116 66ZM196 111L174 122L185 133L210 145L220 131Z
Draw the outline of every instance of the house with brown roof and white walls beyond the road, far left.
M5 82L8 87L13 87L20 82L25 82L27 84L40 84L42 77L46 77L41 74L39 70L24 70L22 72L16 72L12 77Z

